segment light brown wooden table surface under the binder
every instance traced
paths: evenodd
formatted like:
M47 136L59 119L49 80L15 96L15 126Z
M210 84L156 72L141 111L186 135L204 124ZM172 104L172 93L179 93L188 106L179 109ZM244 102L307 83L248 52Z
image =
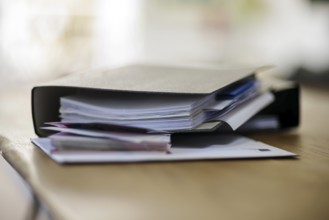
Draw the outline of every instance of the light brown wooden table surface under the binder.
M55 219L329 219L329 88L301 126L252 138L298 159L59 165L30 143L30 88L0 92L0 148Z

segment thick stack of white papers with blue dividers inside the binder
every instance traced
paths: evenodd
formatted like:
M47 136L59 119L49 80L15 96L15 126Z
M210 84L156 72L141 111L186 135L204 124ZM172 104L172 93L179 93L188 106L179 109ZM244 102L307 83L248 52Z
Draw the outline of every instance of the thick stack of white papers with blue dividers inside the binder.
M240 125L271 101L271 94L260 93L259 83L248 79L208 96L114 93L61 97L60 117L66 123L105 123L173 132L193 130L205 122L231 117L230 112L246 104L253 106L251 115L239 120Z

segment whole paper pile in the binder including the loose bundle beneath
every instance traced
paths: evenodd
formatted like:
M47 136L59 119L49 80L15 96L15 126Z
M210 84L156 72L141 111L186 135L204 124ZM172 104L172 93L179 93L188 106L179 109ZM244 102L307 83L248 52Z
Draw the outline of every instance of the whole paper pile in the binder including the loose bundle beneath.
M227 123L232 130L273 101L254 78L210 95L70 95L60 98L61 122L44 129L58 149L146 150L170 152L170 133L193 131L206 123Z

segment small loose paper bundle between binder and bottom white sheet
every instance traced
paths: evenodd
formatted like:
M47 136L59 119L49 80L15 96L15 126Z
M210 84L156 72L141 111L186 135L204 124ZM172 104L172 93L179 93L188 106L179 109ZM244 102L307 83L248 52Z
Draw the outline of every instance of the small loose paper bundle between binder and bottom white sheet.
M53 130L56 130L54 128ZM141 134L60 128L50 140L58 150L164 151L170 153L168 134Z

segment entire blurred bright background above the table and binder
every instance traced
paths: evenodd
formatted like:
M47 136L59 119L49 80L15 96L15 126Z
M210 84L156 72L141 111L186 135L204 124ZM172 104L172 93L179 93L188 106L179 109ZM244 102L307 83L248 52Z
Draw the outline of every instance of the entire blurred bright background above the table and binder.
M0 86L130 62L329 78L326 0L0 0Z

